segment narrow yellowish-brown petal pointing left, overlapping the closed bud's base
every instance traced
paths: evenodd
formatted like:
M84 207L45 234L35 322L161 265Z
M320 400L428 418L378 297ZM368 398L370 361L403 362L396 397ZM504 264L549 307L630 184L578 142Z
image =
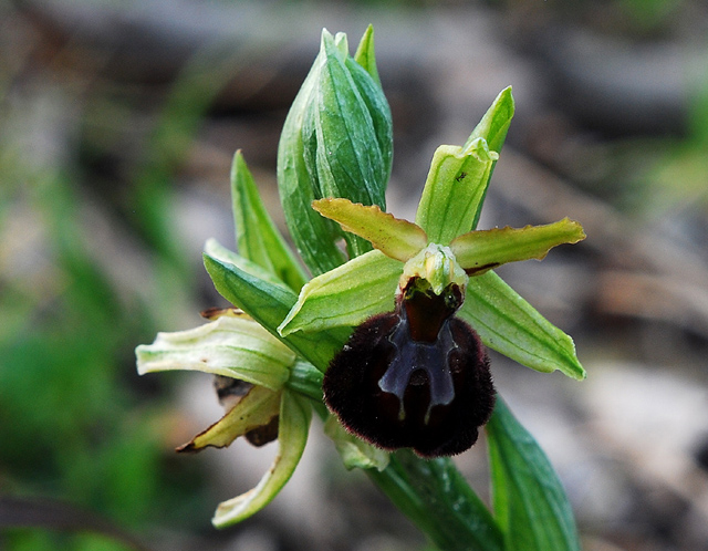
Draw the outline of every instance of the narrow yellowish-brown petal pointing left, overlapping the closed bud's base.
M428 237L419 226L395 218L374 205L367 207L348 199L320 199L312 207L334 220L342 229L356 233L387 257L405 262L428 245Z

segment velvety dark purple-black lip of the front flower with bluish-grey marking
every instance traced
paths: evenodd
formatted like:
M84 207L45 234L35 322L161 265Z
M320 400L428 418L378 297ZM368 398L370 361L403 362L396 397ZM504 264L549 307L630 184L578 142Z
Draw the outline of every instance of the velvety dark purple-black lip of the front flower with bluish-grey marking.
M324 376L324 398L352 433L424 457L460 454L477 441L494 405L489 360L477 333L441 295L409 284L395 312L362 323Z

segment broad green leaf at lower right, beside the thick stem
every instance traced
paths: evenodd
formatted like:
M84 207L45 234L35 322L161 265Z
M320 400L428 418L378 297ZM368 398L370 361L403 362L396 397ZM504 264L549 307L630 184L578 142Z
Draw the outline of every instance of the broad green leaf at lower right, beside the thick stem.
M551 462L500 397L486 430L504 549L579 551L573 512Z

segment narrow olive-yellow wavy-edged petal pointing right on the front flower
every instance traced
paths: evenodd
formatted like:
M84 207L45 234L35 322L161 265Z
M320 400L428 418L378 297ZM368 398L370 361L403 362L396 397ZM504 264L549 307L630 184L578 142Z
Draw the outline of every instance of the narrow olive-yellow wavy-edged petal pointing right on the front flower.
M458 263L469 274L480 274L507 262L545 258L549 250L585 239L583 227L568 218L545 226L470 231L450 243Z

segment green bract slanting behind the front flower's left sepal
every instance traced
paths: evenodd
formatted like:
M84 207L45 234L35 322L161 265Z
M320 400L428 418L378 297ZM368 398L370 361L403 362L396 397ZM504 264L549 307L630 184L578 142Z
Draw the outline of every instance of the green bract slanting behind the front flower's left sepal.
M277 328L298 301L298 295L292 290L260 279L208 253L204 254L204 263L214 285L225 299L242 309L319 370L326 370L334 354L346 342L350 333L347 328L282 337Z

